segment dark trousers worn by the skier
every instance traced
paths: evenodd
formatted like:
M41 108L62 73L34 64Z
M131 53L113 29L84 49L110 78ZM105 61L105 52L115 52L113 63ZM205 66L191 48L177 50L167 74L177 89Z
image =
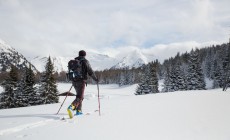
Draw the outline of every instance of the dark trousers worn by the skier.
M73 81L73 86L76 90L76 99L72 102L72 104L76 107L77 110L81 110L82 101L84 99L84 91L85 91L85 81Z

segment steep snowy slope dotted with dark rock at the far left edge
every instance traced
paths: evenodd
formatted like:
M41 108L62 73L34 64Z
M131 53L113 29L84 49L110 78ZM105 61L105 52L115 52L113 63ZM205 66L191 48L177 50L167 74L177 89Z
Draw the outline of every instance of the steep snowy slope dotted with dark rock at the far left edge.
M6 44L0 39L0 71L9 71L13 64L18 69L29 67L30 62L14 48ZM31 65L32 70L37 72L37 69Z

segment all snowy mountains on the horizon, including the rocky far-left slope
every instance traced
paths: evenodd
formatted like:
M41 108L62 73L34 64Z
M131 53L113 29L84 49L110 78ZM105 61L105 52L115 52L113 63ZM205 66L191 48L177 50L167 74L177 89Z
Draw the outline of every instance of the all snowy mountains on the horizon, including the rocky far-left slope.
M116 58L110 57L106 54L99 54L95 52L87 52L86 59L89 60L94 70L104 69L118 69L118 68L137 68L143 64L152 61L146 54L140 50L133 50L131 52L118 55ZM78 52L74 51L72 56L50 56L54 63L55 71L67 71L67 64L69 60L78 56ZM123 56L123 57L122 57ZM0 70L9 70L10 64L22 69L28 66L31 62L34 71L44 71L48 56L35 56L34 58L25 58L22 54L18 53L14 48L7 45L4 41L0 40ZM122 59L121 59L122 58Z

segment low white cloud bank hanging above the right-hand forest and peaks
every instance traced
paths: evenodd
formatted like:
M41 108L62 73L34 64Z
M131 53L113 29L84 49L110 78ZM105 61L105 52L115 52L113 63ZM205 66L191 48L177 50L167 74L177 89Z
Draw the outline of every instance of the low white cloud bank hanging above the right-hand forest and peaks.
M105 48L97 53L107 54L109 56L122 59L130 52L139 51L147 56L149 59L148 61L154 61L158 59L162 63L165 59L176 56L178 52L182 54L190 52L192 49L200 49L215 44L218 44L218 42L199 43L196 41L188 41L169 44L157 44L148 48L140 48L138 46L122 46L117 48Z

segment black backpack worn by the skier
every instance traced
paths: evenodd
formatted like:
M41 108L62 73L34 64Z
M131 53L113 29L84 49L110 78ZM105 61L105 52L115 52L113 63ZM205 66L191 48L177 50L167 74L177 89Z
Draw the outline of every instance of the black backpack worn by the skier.
M68 81L74 81L77 79L83 79L84 73L83 73L83 66L82 63L85 59L75 59L70 60L68 62L68 73L67 73L67 80Z

